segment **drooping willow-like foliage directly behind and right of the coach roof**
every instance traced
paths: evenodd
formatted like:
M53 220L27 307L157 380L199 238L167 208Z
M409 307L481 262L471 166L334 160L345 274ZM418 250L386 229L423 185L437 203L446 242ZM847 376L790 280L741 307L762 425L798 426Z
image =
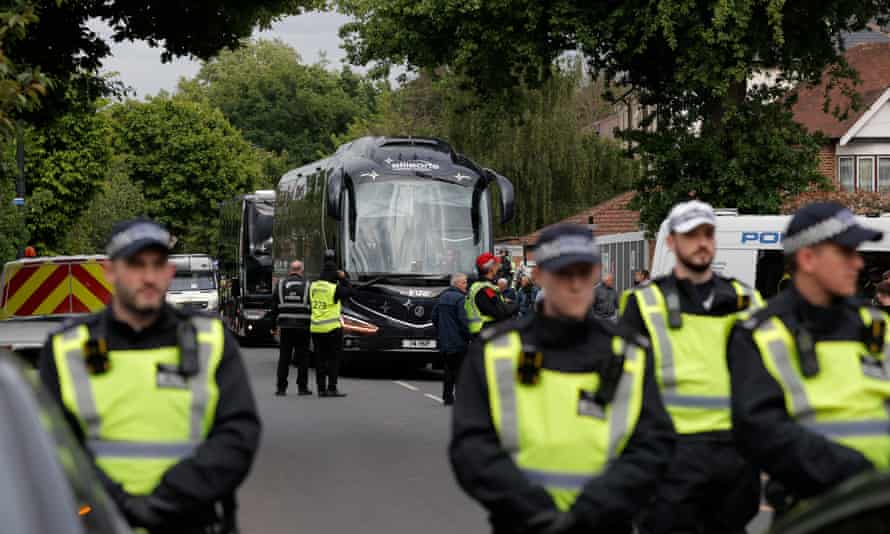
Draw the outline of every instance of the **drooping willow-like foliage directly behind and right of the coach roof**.
M461 89L448 73L424 75L383 95L381 112L359 121L360 135L427 135L452 143L479 165L511 178L516 219L501 234L525 234L627 190L637 162L591 131L607 106L596 105L601 84L579 65L557 71L540 89L523 89L510 106ZM345 140L345 139L344 139Z

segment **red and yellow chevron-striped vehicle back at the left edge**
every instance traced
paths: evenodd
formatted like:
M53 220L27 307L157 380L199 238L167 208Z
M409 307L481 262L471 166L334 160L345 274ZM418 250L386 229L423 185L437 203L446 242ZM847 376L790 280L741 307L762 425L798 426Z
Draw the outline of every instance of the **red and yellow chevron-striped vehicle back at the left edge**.
M99 261L8 264L2 291L2 317L90 313L111 300Z

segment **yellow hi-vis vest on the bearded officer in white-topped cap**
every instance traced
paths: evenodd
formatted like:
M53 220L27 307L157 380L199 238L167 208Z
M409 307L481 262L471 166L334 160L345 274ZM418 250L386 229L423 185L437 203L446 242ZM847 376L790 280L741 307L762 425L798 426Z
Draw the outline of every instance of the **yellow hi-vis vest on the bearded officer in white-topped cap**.
M747 305L747 309L752 310L763 305L757 291L735 280L732 285L739 298L739 308ZM655 376L677 433L732 428L726 345L730 330L741 314L681 313L679 297L675 294L671 298L676 301L668 305L665 294L654 283L625 293L622 313L630 295L636 296L640 315L646 323L655 356ZM679 314L679 328L670 326L671 309Z

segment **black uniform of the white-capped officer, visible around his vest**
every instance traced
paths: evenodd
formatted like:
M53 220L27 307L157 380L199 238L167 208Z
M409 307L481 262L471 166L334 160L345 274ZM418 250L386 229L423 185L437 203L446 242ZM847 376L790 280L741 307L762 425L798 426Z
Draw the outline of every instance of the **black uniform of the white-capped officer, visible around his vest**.
M676 292L682 313L722 317L738 311L735 288L717 275L703 284L674 274L650 283L663 294ZM619 322L648 335L636 298L627 299ZM759 507L760 473L738 451L731 430L681 434L670 468L658 485L655 505L641 526L646 532L744 532Z

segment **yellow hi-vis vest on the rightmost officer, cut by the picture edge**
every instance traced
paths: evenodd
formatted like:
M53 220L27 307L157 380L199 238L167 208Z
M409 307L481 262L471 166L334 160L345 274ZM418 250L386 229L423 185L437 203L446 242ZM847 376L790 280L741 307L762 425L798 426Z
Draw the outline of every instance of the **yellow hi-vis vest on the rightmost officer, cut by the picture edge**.
M860 310L866 328L886 315ZM862 453L878 469L890 468L890 333L883 352L872 354L862 341L819 341L819 372L800 371L797 344L778 317L754 330L754 342L770 375L785 394L785 409L805 428Z

